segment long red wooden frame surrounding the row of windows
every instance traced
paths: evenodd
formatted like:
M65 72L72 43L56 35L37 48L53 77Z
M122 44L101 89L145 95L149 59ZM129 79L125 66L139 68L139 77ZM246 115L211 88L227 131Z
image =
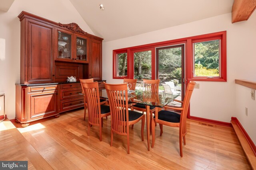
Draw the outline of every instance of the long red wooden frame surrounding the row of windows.
M208 77L194 77L193 76L193 43L195 42L201 42L201 41L209 41L213 39L220 39L221 40L221 49L220 49L220 77L214 77L214 78L208 78ZM156 66L155 66L155 49L156 47L164 47L168 45L173 44L179 44L179 43L185 44L185 75L188 81L218 81L218 82L226 82L227 81L227 63L226 63L226 31L216 32L216 33L209 33L204 35L196 35L193 37L186 37L181 39L174 39L169 41L162 41L158 43L152 43L152 44L146 44L146 45L140 45L135 47L128 47L123 49L116 49L113 50L113 79L123 79L123 78L134 78L134 66L133 66L133 55L131 51L134 50L144 50L148 48L154 48L152 50L152 79L156 78ZM154 51L154 53L153 53ZM127 76L117 76L117 61L116 56L119 53L125 53L127 52ZM153 61L154 58L154 61ZM154 76L153 76L154 74Z

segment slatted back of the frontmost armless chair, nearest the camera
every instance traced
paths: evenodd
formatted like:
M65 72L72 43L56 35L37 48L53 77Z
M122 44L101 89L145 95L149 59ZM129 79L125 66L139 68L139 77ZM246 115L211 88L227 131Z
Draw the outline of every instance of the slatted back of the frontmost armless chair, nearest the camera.
M111 128L119 135L129 134L126 84L105 84L111 113ZM125 99L125 100L124 100Z

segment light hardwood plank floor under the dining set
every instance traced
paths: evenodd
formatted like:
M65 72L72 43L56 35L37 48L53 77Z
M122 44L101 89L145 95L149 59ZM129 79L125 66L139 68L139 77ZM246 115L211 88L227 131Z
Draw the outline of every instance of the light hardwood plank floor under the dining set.
M127 154L125 136L114 134L110 147L110 117L103 119L100 142L98 127L92 126L88 136L87 117L83 121L83 116L84 110L79 109L62 113L59 118L32 122L26 128L14 123L22 135L16 129L0 131L0 160L29 160L31 169L251 169L232 127L188 120L181 158L178 128L164 126L160 137L158 125L155 146L148 151L146 133L145 141L141 141L141 125L137 123L130 128ZM24 144L20 145L18 139Z

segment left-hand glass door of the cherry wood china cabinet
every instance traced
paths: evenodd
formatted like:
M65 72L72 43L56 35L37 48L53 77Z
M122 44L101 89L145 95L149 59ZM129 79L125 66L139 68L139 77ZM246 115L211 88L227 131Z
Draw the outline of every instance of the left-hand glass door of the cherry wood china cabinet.
M71 42L71 34L58 31L58 59L72 59Z

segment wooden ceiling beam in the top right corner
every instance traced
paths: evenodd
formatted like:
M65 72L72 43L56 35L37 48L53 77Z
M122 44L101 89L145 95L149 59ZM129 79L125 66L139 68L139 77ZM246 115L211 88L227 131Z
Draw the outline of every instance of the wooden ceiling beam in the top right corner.
M250 18L256 8L256 0L234 0L232 6L232 23Z

